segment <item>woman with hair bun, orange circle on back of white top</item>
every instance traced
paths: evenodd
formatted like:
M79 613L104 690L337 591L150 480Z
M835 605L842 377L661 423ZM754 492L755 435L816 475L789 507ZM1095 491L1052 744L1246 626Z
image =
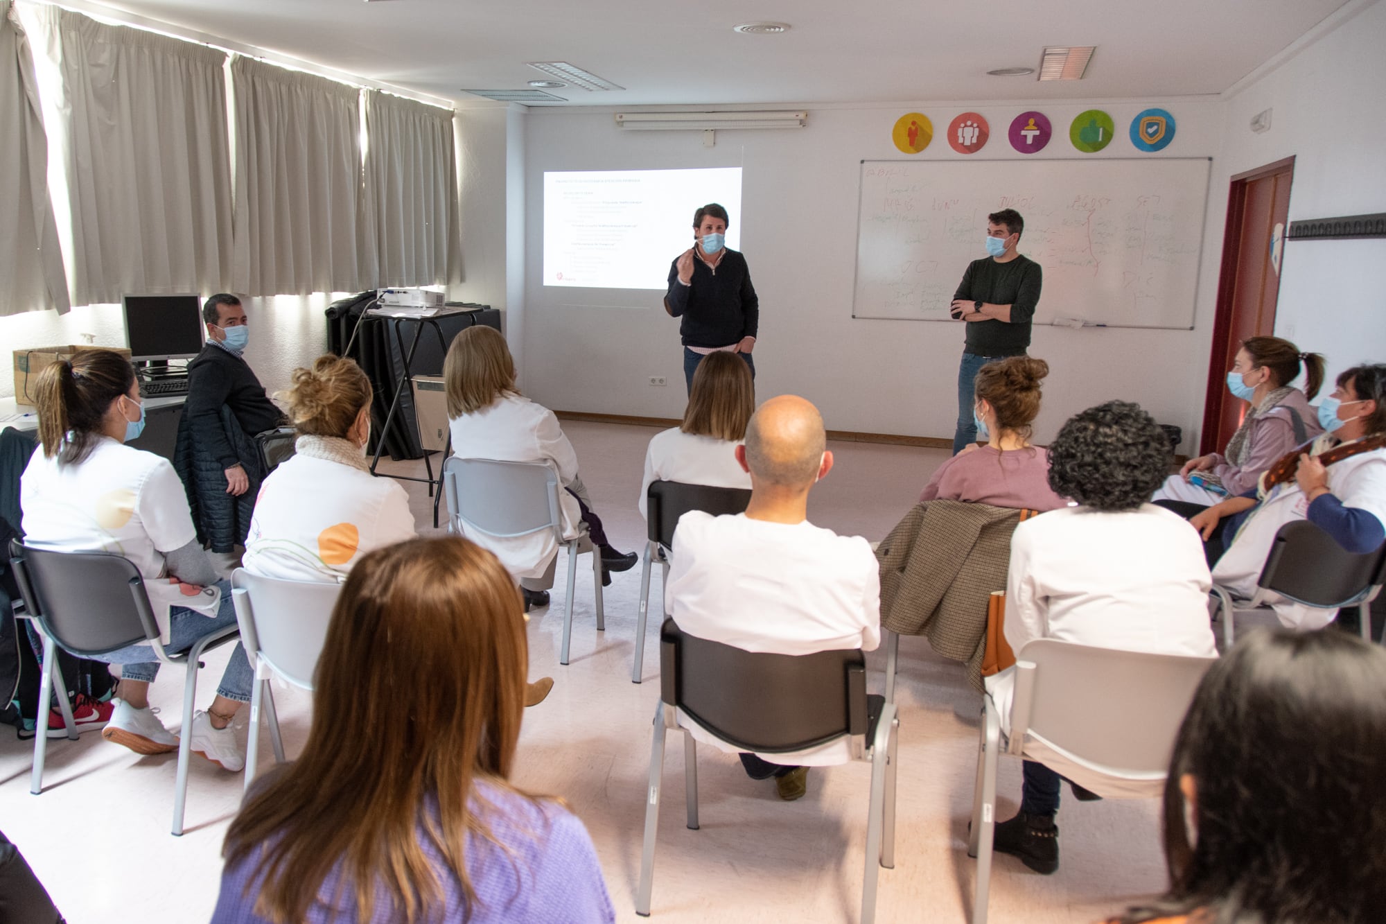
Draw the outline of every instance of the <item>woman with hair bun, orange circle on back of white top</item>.
M409 495L370 473L370 379L352 359L319 357L280 395L298 430L294 456L265 479L245 540L252 574L345 581L367 552L414 537Z

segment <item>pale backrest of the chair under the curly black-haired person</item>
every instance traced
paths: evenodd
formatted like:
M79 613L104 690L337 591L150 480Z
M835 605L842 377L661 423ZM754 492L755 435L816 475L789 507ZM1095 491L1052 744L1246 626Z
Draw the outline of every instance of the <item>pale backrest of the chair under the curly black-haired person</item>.
M1027 642L1016 658L1012 741L1028 731L1084 763L1124 773L1168 770L1184 713L1216 660L1055 638Z

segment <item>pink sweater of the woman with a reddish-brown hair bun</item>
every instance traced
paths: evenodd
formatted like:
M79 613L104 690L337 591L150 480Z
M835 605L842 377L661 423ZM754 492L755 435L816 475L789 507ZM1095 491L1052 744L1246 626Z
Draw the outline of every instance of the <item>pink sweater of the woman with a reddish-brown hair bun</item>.
M934 470L919 495L920 501L937 498L1041 512L1069 505L1049 487L1049 454L1040 447L1002 452L985 445L955 455Z

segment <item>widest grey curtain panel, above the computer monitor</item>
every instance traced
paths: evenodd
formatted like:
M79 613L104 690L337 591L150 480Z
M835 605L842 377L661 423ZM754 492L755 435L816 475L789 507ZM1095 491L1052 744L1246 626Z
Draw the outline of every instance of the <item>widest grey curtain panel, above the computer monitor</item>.
M47 7L62 78L73 301L219 291L231 269L226 54Z

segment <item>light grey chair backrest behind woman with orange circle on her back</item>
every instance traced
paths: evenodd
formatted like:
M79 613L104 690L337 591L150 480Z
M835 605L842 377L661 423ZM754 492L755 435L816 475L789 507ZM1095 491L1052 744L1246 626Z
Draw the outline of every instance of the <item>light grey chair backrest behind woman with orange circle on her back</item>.
M312 690L340 594L335 581L290 581L236 569L231 599L245 652L263 658L290 683Z

